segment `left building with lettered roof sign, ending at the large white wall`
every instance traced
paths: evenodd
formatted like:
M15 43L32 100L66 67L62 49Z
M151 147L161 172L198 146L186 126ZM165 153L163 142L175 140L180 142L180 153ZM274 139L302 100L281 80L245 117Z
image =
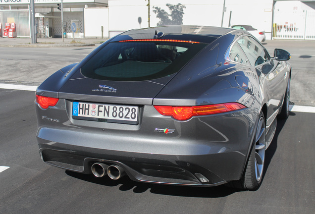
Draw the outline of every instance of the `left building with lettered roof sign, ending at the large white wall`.
M66 33L65 36L72 37L72 23L75 23L77 28L74 37L82 38L85 36L85 9L107 9L108 0L62 0L63 23L61 23L61 8L57 5L61 4L61 0L34 0L34 4L38 38L61 38L62 28ZM5 27L5 23L16 23L16 37L30 37L30 0L0 0L0 23L2 28ZM108 30L106 32L108 34Z

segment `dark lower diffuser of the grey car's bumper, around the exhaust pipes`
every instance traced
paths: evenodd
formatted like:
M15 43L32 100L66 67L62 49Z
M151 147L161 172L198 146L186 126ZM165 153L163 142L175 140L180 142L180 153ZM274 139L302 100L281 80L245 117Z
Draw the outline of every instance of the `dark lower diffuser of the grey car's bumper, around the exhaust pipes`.
M179 157L182 160L174 160L175 157L152 156L151 158L136 158L137 154L128 154L130 156L103 156L87 153L84 156L80 156L73 154L73 151L70 150L60 151L48 148L41 148L40 154L46 163L86 174L92 173L91 166L93 163L102 162L107 165L115 164L121 166L129 178L134 181L194 186L215 186L226 183L226 181L211 173L210 170L190 163L191 161L189 161L190 158L188 157ZM205 176L208 182L207 180L201 182L197 178L196 173Z

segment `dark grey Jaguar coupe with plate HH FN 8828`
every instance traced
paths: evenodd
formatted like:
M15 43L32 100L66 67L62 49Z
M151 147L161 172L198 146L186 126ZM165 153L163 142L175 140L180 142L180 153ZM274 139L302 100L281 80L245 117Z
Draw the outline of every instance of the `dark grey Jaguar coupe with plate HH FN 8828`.
M97 177L256 190L289 115L289 58L244 30L124 32L38 87L40 156Z

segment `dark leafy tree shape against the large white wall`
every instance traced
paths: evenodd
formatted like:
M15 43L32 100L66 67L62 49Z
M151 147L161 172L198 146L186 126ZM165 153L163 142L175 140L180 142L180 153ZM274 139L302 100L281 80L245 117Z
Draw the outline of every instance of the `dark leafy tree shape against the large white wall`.
M161 25L182 25L183 24L183 15L185 5L178 3L177 5L167 3L170 14L168 14L164 9L160 7L153 7L153 12L157 14L157 18L160 21L157 23L157 26Z

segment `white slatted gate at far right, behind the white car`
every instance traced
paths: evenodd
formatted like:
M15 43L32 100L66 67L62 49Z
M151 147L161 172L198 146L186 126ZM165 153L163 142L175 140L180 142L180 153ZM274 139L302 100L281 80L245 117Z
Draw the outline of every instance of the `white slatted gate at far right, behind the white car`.
M315 40L315 11L274 11L273 39Z

